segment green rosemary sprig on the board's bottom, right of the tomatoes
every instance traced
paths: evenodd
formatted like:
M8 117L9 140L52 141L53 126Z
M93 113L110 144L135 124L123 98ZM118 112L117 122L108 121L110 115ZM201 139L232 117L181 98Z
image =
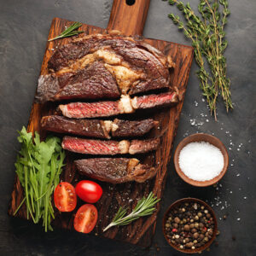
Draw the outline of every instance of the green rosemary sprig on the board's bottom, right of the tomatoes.
M119 207L119 211L114 216L112 222L103 230L105 232L109 228L116 225L127 225L137 218L151 215L155 208L154 205L160 201L152 192L148 195L147 198L143 197L140 201L137 202L137 206L131 211L130 214L126 215L127 210L123 207Z

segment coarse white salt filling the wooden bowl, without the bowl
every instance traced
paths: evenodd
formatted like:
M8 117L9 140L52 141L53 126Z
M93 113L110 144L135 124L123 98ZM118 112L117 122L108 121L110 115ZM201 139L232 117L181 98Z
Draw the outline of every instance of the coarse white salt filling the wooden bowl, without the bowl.
M187 177L207 181L222 171L224 156L210 143L189 143L180 151L178 164Z

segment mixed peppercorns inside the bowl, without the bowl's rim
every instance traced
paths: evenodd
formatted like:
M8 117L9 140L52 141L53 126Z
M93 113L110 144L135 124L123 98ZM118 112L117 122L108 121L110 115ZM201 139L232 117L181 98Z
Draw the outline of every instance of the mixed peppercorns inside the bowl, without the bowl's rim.
M202 247L212 239L214 221L206 207L195 202L174 207L167 215L165 233L179 249Z

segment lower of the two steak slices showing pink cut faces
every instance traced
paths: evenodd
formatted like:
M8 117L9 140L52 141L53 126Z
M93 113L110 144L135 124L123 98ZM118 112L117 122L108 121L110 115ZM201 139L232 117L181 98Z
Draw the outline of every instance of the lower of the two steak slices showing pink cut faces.
M138 154L155 150L159 147L160 139L100 141L82 139L78 137L64 137L62 148L80 154Z

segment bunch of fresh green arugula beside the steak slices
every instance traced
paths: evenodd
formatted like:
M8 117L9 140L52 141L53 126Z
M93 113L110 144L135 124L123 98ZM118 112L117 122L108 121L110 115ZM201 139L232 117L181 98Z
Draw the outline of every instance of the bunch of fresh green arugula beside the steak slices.
M42 218L45 232L53 230L50 222L55 216L51 195L60 182L65 159L61 140L58 137L47 137L44 142L40 142L38 132L35 132L33 139L32 132L28 133L24 126L19 134L21 150L15 167L25 196L15 213L26 201L26 218L32 218L35 224Z

